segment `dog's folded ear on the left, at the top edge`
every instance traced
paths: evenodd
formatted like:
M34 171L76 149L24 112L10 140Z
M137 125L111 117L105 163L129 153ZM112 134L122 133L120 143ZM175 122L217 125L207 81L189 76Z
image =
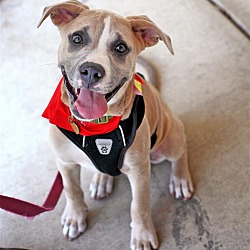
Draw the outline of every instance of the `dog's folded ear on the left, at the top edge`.
M40 27L40 25L49 15L52 22L56 26L59 26L63 22L70 22L71 20L76 18L80 14L80 12L88 9L89 7L87 5L82 4L81 2L76 0L58 3L45 7L41 20L37 25L37 28Z

